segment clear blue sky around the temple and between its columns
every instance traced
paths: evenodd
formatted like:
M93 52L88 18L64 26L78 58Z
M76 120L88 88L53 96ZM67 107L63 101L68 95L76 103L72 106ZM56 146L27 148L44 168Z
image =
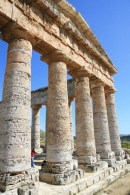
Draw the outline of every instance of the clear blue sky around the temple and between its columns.
M114 76L117 117L121 134L130 134L130 0L69 0L79 11L118 69ZM0 41L0 101L8 44ZM48 66L33 51L32 90L48 85ZM73 105L73 124L75 106ZM75 125L74 129L75 129ZM41 129L45 129L45 107L41 109Z

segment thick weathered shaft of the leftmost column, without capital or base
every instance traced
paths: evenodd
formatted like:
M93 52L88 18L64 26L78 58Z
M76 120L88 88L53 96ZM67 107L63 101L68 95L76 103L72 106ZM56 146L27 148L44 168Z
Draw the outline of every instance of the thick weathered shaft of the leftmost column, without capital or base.
M31 167L30 61L32 45L15 39L9 44L0 113L0 171Z

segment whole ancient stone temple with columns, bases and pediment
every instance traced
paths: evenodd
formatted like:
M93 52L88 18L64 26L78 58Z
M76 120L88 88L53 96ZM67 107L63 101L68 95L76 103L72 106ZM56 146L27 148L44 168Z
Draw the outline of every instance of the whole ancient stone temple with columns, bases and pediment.
M40 170L42 181L68 184L82 178L84 171L112 167L124 159L114 101L117 69L72 5L66 0L0 0L0 38L8 43L0 103L0 190L39 180L30 152L31 147L41 152L43 105L47 163ZM31 96L32 50L48 64L49 85ZM72 80L67 81L67 71Z

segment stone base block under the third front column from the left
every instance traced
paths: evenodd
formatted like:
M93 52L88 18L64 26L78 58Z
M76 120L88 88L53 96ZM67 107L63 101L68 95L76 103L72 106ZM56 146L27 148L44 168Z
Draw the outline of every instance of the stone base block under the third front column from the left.
M92 173L92 172L96 172L108 168L108 163L105 161L99 161L93 165L79 164L78 167L84 170L85 172Z

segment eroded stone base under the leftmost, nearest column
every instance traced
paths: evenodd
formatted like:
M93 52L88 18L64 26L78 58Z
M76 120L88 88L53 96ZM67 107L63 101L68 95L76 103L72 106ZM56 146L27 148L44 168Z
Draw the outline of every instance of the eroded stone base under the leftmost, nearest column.
M39 171L35 168L20 173L0 173L0 190L11 190L36 181L39 181Z

